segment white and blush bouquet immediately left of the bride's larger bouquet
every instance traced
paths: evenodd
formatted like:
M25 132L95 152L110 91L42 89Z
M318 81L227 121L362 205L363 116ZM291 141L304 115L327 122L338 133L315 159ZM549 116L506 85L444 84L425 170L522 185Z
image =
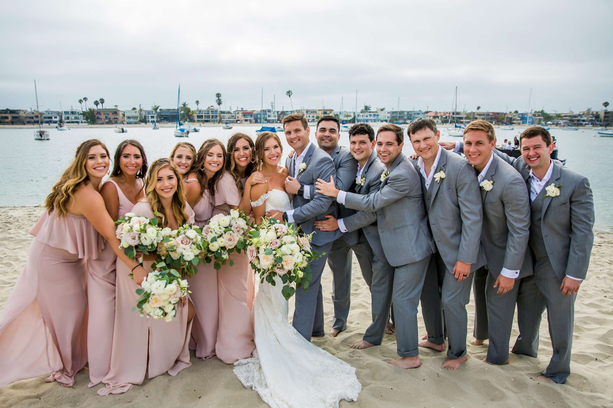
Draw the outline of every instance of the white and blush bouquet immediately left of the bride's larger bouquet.
M229 215L213 215L208 224L202 228L202 237L207 242L208 253L205 262L210 258L215 263L216 270L221 269L221 265L226 264L229 254L237 252L247 247L245 237L249 229L248 218L237 210L230 210ZM230 266L234 262L230 259Z

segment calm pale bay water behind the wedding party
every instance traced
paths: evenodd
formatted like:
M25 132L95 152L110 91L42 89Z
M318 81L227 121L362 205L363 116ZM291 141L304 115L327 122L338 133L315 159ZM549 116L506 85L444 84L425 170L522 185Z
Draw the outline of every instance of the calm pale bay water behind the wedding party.
M115 133L112 128L74 128L59 132L50 128L51 140L34 140L34 128L0 129L0 206L41 205L50 193L61 172L74 158L78 144L86 139L97 138L104 142L113 155L115 147L124 139L137 139L145 147L149 163L156 158L168 157L170 150L178 141L189 141L196 149L208 138L218 138L224 143L235 132L242 132L256 138L254 126L234 126L231 130L221 127L202 127L198 133L190 133L189 138L175 138L173 128L152 130L148 127L129 128L128 133ZM376 127L375 127L376 130ZM609 160L613 138L593 137L596 130L570 132L553 130L557 139L560 158L566 158L566 166L588 177L594 193L597 229L613 230L613 188L609 180ZM442 132L441 140L461 140ZM498 141L512 139L517 130L496 130ZM283 135L281 141L285 153L289 150ZM311 126L311 141L314 139L314 125ZM349 136L341 133L343 146L348 146ZM405 153L413 148L405 143ZM284 160L281 161L284 163Z

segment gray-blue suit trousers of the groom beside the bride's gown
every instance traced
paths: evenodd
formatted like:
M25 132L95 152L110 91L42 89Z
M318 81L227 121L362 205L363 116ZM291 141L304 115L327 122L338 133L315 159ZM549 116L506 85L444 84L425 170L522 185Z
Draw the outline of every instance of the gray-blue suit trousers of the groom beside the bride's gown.
M296 290L296 308L294 311L294 328L308 341L311 336L324 335L324 298L321 294L321 273L326 266L327 254L332 248L332 242L324 245L312 245L314 251L325 252L326 255L310 264L313 279L309 282L307 292L302 288Z

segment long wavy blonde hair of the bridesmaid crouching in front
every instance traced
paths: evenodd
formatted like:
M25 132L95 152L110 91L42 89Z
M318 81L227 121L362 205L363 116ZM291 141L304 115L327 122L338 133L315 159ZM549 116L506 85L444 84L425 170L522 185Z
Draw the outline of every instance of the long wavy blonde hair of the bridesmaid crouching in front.
M145 196L147 196L147 201L151 205L151 211L158 213L158 220L161 226L168 226L166 210L159 200L157 191L155 191L156 184L158 183L158 172L166 167L170 168L175 173L175 177L177 177L177 191L172 196L172 212L175 215L177 224L181 226L188 220L188 215L185 212L185 187L183 187L181 182L181 173L172 160L169 158L158 158L158 160L151 164L151 169L147 174L147 182L145 182Z

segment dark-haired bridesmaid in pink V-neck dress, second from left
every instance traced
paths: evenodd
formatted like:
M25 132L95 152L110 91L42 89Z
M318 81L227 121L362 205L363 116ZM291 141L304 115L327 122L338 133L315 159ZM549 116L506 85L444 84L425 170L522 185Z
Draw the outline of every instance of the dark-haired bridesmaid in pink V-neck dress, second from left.
M135 140L124 140L115 150L110 179L102 184L100 194L113 220L129 212L143 198L147 174L147 157L143 146ZM117 257L106 245L97 259L87 263L88 320L87 348L89 354L89 387L100 384L109 374L113 325L115 322L115 261Z

